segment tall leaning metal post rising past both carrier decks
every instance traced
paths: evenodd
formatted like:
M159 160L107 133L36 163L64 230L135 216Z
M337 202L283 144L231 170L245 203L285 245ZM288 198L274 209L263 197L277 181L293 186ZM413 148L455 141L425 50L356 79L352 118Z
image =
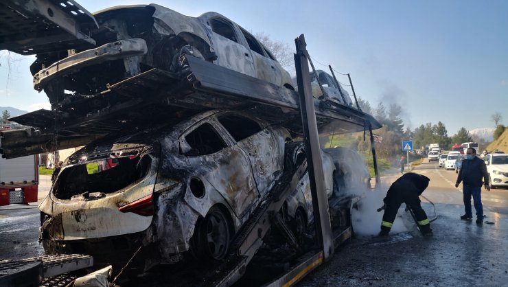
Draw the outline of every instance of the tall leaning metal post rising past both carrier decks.
M328 198L324 186L325 176L323 175L323 162L319 146L316 112L314 111L314 98L312 97L312 88L310 86L309 59L303 34L295 39L295 44L297 47L295 66L303 124L303 141L305 142L309 167L312 207L314 207L314 222L316 223L316 239L319 246L323 248L323 256L327 260L334 253L334 242L332 225L330 223L330 211L328 210Z

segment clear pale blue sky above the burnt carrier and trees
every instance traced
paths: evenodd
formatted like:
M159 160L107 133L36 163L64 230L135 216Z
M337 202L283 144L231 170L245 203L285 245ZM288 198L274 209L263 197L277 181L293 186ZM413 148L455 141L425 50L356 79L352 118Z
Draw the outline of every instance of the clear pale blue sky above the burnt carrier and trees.
M79 1L96 12L141 1ZM152 1L188 16L214 11L295 49L305 34L316 69L349 73L356 95L376 107L402 106L404 124L508 125L508 1ZM50 108L32 88L33 56L0 51L0 106ZM339 82L347 76L336 73ZM346 87L346 89L349 87ZM351 93L351 90L350 94Z

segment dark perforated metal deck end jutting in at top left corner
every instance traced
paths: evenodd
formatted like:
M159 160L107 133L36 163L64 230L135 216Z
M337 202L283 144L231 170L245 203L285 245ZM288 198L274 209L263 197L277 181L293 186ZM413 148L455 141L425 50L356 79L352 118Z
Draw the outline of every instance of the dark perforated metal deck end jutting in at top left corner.
M4 0L0 3L0 50L22 55L91 47L98 28L93 15L73 0Z

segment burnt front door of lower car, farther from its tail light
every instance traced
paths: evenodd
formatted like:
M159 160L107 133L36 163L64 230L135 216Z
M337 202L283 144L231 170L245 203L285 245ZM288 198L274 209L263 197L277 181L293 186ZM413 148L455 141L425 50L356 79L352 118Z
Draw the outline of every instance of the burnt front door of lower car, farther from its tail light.
M268 192L284 168L284 137L249 117L224 114L218 121L248 155L257 190Z

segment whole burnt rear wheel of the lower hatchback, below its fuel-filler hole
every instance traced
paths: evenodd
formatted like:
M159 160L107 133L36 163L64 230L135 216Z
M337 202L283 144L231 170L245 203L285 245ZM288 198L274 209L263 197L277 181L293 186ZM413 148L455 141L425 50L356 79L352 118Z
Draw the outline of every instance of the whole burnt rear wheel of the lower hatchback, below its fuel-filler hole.
M194 255L205 260L222 260L229 251L231 238L231 225L224 211L212 207L196 227Z

